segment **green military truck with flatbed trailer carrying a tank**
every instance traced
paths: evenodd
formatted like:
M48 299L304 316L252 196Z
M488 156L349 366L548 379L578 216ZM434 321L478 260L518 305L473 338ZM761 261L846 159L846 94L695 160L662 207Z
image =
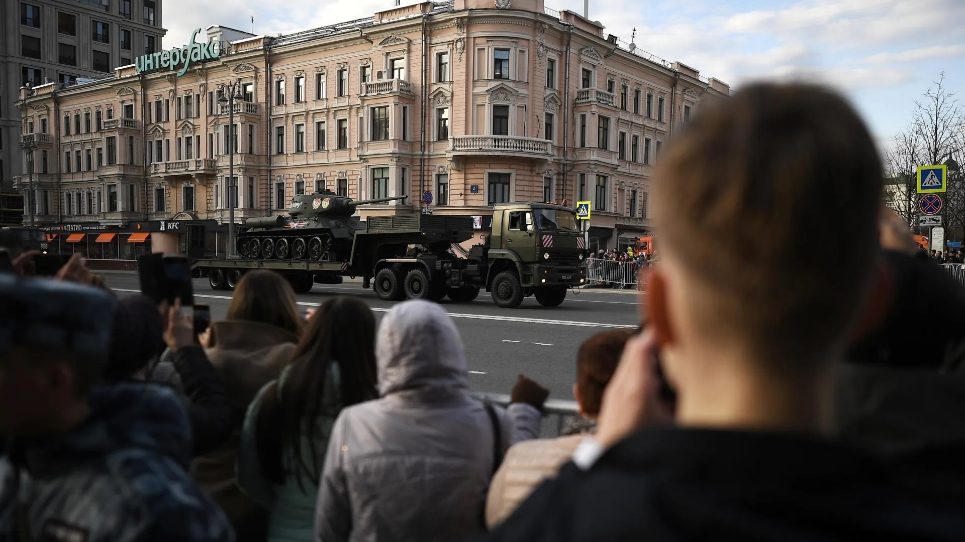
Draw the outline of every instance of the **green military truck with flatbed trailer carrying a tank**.
M297 198L314 203L317 197ZM294 203L292 210L302 212L305 202ZM264 227L277 229L280 223L268 220ZM461 245L474 237L469 216L371 217L363 224L364 229L352 231L347 259L329 251L320 259L203 258L195 265L215 289L233 288L250 269L272 269L286 275L298 292L314 284L341 284L350 276L362 277L363 287L373 287L387 301L449 297L470 302L484 289L503 308L516 308L531 295L540 305L557 307L569 288L586 284L584 237L575 212L563 205L497 203L490 234L469 249ZM246 236L259 235L249 231Z

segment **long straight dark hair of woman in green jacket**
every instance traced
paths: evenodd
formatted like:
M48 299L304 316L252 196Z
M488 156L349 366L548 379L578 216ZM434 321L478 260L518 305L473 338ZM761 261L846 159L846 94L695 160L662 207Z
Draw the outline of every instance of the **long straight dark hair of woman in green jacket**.
M325 450L316 449L317 423L305 420L334 418L342 407L378 396L372 310L348 297L322 303L309 319L288 370L281 393L262 398L262 409L277 413L278 428L270 438L259 431L262 472L276 483L284 483L291 474L297 474L299 483L302 478L315 482L320 474L318 457ZM308 443L307 449L303 443Z

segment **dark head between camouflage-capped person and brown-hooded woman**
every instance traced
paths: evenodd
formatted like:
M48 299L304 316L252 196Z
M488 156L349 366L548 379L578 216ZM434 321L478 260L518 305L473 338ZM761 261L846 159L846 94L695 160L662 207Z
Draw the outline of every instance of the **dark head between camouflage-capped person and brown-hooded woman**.
M134 377L163 351L164 318L151 298L134 295L119 301L104 379L117 382Z

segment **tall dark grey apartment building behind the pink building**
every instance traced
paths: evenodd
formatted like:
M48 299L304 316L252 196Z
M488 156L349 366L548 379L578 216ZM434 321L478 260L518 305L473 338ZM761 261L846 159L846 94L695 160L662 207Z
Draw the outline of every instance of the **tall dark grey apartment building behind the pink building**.
M160 50L161 0L5 0L0 28L0 188L29 172L21 87L67 87ZM40 132L34 126L26 133Z

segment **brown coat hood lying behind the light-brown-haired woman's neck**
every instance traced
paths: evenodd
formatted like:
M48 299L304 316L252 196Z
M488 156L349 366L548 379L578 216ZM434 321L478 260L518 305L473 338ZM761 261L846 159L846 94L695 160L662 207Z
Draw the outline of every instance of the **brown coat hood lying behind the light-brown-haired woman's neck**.
M295 334L261 322L214 322L210 330L205 353L234 409L247 409L262 386L278 378L298 342Z

